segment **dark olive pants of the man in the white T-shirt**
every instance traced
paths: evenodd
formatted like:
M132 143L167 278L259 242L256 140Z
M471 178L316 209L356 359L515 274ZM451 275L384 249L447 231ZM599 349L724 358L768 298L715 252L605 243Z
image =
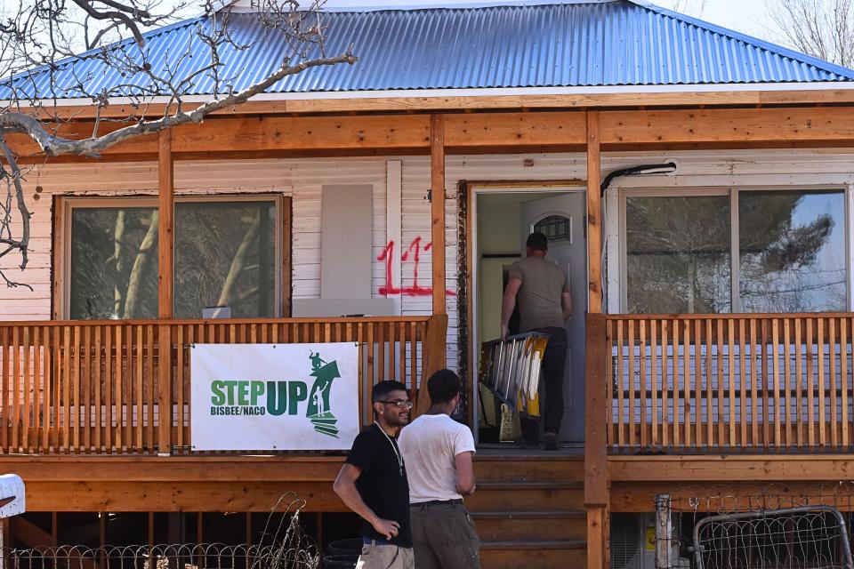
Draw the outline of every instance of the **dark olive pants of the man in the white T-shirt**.
M480 538L463 504L412 504L416 569L480 569Z

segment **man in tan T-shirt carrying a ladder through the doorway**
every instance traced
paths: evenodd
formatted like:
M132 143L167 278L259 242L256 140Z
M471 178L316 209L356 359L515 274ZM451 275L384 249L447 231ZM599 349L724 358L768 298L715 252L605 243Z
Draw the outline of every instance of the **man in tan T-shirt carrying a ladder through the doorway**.
M501 304L501 338L507 338L516 300L519 299L520 333L549 335L543 357L544 443L548 451L558 450L560 420L563 418L563 369L567 360L567 331L564 321L572 315L572 297L567 276L545 259L549 241L542 233L532 233L525 244L527 257L510 268L510 278ZM539 425L522 418L522 437L529 445L539 443Z

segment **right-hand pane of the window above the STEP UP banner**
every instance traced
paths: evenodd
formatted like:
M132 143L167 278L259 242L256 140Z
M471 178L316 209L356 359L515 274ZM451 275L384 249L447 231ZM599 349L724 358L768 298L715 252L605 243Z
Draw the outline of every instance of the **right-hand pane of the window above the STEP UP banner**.
M275 317L276 203L175 206L175 316L229 306L232 317Z

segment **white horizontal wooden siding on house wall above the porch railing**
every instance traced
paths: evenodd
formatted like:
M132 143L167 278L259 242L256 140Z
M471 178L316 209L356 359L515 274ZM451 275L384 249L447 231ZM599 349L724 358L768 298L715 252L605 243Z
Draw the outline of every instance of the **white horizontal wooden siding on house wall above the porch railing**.
M658 163L675 158L680 172L675 176L635 177L618 180L614 188L727 185L815 185L854 184L854 157L850 150L767 150L692 151L624 153L603 156L605 172L635 164ZM418 285L431 286L431 253L423 246L431 240L430 158L393 158L402 163L400 243L396 255L422 239ZM526 161L528 164L526 165ZM458 180L566 180L584 179L583 154L448 156L447 158L447 289L456 292L456 186ZM238 161L196 161L175 164L175 189L179 194L276 192L293 196L293 297L319 297L320 188L324 184L373 184L374 215L372 248L376 259L387 244L386 159L260 159ZM44 191L36 200L36 186ZM157 164L96 163L55 164L36 167L25 184L28 205L33 212L32 241L28 270L21 274L17 258L6 258L3 268L9 275L31 284L34 291L0 287L0 319L46 320L51 307L51 204L52 196L151 195L157 190ZM616 191L616 189L615 189ZM607 221L617 212L609 211ZM610 224L614 226L613 223ZM470 229L471 230L471 229ZM613 243L608 241L608 246ZM398 286L414 283L415 262L410 257L400 264ZM374 261L373 291L385 284L385 264ZM615 280L612 274L609 284ZM401 298L403 315L428 314L430 296ZM447 296L448 365L456 366L456 298Z

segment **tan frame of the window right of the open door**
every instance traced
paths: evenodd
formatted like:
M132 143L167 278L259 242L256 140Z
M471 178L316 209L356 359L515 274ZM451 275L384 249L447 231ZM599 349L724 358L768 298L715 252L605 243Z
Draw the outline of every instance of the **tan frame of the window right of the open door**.
M845 310L850 311L852 308L852 280L851 280L851 247L854 240L854 228L852 228L852 218L854 214L851 212L852 200L851 193L854 187L845 184L793 184L791 186L761 186L761 185L727 185L727 186L692 186L680 188L619 188L619 304L620 311L625 313L628 307L628 244L626 233L626 202L629 197L703 197L703 196L729 196L729 293L730 293L730 311L729 313L721 314L745 314L741 306L740 298L740 238L741 226L738 219L738 195L740 192L842 192L844 207L842 212L843 220L843 240L845 243ZM750 313L753 314L753 313ZM782 313L781 313L782 314Z

